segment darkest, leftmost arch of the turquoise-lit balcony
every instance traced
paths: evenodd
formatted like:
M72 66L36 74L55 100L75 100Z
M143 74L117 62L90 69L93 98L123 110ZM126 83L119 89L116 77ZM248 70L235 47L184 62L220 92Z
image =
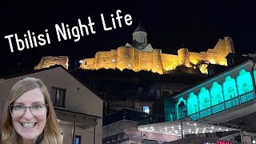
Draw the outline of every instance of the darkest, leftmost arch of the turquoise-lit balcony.
M186 117L186 115L187 115L186 101L183 98L178 98L176 110L177 110L177 118L178 119Z

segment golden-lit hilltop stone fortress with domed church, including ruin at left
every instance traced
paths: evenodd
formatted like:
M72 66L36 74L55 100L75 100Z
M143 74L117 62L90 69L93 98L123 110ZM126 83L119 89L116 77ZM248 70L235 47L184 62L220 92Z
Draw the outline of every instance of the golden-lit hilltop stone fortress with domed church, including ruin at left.
M159 74L166 74L169 70L174 70L176 66L193 66L202 62L208 62L226 66L226 55L234 53L234 44L232 38L225 37L219 39L213 49L206 52L190 52L187 48L178 50L178 54L162 54L161 49L153 49L147 42L147 33L138 26L133 33L133 43L126 43L126 46L120 46L117 50L98 51L94 58L85 58L81 62L80 68L84 70L105 69L130 69L134 71L151 70ZM42 58L46 60L47 58ZM40 63L42 63L41 60ZM55 60L58 64L58 61ZM46 67L44 63L35 66L36 69ZM50 66L52 66L51 62ZM62 65L66 67L62 59ZM206 73L206 66L200 69Z

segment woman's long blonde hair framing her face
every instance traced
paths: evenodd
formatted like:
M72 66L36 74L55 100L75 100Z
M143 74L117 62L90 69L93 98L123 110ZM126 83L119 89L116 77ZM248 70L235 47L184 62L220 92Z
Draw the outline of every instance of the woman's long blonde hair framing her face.
M17 83L10 90L10 94L6 99L6 104L2 113L2 144L21 144L22 137L14 129L11 119L11 114L8 106L18 99L22 94L27 91L39 88L42 90L45 102L48 104L46 126L42 134L38 138L42 138L41 143L47 144L60 144L62 143L61 130L58 124L58 119L54 111L54 106L50 101L50 95L46 86L38 78L24 78ZM0 141L1 143L1 141Z

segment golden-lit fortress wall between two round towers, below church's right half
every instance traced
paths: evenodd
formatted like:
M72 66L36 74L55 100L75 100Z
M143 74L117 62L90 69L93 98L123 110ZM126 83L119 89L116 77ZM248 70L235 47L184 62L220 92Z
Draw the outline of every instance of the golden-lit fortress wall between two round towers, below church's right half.
M153 53L151 51L140 51L141 70L152 70Z

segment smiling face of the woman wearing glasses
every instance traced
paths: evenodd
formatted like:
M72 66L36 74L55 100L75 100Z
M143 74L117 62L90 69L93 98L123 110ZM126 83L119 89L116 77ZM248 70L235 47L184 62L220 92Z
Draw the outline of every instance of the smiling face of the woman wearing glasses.
M44 112L38 114L38 112L35 111L38 110L38 104L45 104L44 96L39 88L27 91L14 101L17 111L21 110L22 106L34 106L26 108L25 113L20 117L14 117L14 115L11 116L14 123L14 129L23 138L23 141L32 140L35 142L46 126L46 106L43 109ZM31 110L33 114L31 113ZM12 111L14 114L14 108Z

